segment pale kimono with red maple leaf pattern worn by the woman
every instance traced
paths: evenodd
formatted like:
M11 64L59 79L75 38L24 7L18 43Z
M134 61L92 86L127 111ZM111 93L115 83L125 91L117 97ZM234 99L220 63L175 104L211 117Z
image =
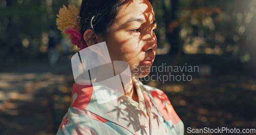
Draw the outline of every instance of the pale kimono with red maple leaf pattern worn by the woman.
M139 105L125 96L98 104L95 91L99 87L75 83L72 105L57 134L184 134L183 122L160 89L137 78L133 84Z

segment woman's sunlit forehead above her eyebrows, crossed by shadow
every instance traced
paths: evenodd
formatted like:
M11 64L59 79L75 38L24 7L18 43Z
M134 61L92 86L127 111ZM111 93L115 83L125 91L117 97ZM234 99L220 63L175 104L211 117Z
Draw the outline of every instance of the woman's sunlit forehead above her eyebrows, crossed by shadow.
M151 3L147 0L123 0L114 22L122 24L131 17L140 17L144 21L155 20Z

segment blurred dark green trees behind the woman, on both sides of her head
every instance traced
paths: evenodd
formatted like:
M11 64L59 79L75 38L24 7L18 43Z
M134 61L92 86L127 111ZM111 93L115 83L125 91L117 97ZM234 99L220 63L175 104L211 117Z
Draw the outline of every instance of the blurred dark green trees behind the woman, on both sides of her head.
M40 53L42 34L57 31L58 10L62 5L80 2L1 0L0 44L4 50L1 53ZM200 37L203 43L196 42L199 49L193 53L228 54L242 61L254 58L255 1L160 0L154 1L153 6L160 48L170 46L172 53L184 51L184 45L191 46Z

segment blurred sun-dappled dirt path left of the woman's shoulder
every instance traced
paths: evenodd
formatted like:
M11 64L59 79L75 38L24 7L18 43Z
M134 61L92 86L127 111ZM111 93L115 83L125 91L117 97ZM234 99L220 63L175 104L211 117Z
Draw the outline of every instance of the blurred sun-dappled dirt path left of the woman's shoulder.
M70 76L69 62L34 63L0 73L1 134L56 134L60 122L53 94Z

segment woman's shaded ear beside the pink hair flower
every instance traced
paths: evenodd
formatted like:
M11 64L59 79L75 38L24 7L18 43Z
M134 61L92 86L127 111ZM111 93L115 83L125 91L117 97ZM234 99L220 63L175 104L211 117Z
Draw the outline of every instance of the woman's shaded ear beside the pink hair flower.
M97 36L92 29L88 29L83 33L83 39L88 47L104 41L103 37Z

